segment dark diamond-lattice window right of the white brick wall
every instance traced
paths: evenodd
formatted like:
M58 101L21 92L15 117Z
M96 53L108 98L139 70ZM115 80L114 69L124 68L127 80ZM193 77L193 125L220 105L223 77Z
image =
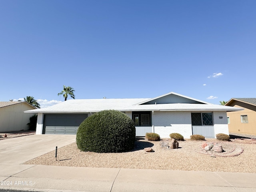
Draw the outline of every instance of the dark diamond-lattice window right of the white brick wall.
M212 113L191 113L191 120L194 126L213 125Z

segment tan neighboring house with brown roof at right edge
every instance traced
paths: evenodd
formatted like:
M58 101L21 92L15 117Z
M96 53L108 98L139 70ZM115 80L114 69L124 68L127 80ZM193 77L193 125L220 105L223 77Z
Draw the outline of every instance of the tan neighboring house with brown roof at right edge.
M232 98L225 106L244 108L227 112L229 132L256 135L256 98Z

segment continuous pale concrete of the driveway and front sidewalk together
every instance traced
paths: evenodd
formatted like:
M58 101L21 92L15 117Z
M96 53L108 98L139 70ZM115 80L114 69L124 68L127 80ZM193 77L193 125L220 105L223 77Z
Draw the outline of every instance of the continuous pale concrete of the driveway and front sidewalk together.
M1 189L49 192L256 192L256 174L21 164L75 142L73 135L0 140Z

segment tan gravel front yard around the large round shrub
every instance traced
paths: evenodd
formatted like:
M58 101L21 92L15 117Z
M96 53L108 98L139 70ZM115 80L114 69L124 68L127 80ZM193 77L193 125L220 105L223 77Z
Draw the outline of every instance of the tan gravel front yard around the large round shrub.
M218 142L225 152L204 154L201 147L204 142ZM256 173L256 144L249 139L236 139L232 142L188 139L179 141L180 148L172 150L162 148L160 143L161 141L138 140L134 150L122 153L81 152L76 143L72 143L58 149L57 161L55 151L52 151L24 164ZM152 147L154 152L145 152L146 147ZM222 155L219 156L220 154Z

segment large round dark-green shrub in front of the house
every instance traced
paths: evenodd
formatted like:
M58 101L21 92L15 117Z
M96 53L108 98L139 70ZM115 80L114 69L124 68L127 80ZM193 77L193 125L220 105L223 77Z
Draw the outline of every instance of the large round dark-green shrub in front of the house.
M86 118L76 134L77 147L98 153L121 152L134 148L135 126L126 114L104 110Z

